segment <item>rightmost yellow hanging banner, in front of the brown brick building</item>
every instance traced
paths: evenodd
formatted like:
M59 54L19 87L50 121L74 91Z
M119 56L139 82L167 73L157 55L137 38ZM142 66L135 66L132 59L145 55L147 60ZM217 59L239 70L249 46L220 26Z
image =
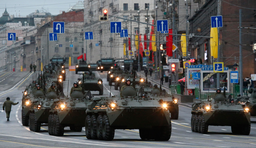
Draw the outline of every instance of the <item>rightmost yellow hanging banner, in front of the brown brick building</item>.
M218 29L211 28L210 36L210 46L211 46L211 56L213 58L218 58Z

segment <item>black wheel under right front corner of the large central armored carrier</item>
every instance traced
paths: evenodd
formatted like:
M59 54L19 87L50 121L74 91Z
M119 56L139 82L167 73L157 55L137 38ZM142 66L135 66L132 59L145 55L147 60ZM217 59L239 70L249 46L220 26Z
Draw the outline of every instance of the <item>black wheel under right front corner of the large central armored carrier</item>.
M155 140L168 141L171 138L172 134L172 122L170 119L169 126L164 126L157 128L159 130L155 130Z

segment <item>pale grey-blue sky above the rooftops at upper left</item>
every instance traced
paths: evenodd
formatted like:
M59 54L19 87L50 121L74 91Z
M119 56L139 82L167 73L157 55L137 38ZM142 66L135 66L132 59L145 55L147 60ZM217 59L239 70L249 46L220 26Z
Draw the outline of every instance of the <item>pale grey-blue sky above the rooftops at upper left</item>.
M6 10L10 15L26 17L28 14L39 10L39 12L50 12L52 15L60 14L60 11L67 11L70 6L75 5L79 0L0 0L0 17ZM84 0L80 0L84 1Z

